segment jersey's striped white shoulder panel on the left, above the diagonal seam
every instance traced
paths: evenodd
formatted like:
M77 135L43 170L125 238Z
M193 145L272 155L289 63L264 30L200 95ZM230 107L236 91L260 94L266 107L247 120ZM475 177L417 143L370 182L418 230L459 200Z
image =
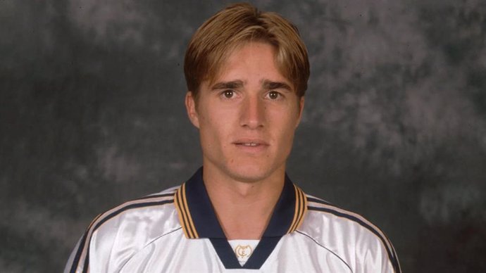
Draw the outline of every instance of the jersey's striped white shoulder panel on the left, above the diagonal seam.
M108 265L123 262L152 241L181 229L174 205L180 186L127 201L101 213L89 224L71 254L65 272L107 272ZM117 253L120 254L117 254ZM118 257L116 261L113 257Z

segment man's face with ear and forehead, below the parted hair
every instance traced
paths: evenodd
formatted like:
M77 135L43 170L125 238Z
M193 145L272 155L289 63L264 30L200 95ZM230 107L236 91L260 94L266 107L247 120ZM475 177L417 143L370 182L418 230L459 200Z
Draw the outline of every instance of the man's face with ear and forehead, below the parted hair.
M199 128L204 170L256 182L285 172L304 98L280 74L270 44L235 50L214 83L202 82L196 102L186 96Z

